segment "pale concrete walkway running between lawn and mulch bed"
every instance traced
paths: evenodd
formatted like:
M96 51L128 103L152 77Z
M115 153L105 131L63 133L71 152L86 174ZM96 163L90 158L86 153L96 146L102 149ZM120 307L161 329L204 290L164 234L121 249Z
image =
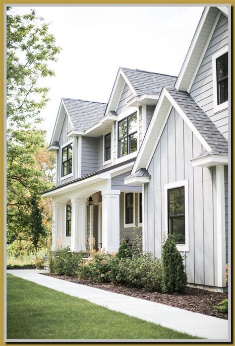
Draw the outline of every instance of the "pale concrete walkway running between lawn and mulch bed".
M178 332L229 341L227 320L41 275L47 273L44 270L7 270L7 273Z

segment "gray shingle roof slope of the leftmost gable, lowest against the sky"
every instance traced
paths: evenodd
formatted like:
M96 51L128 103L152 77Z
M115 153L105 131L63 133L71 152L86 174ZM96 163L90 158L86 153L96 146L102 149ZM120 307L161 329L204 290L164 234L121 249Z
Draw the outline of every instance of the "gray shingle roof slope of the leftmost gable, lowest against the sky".
M62 100L75 131L85 131L97 124L104 116L107 106L106 103L72 98Z

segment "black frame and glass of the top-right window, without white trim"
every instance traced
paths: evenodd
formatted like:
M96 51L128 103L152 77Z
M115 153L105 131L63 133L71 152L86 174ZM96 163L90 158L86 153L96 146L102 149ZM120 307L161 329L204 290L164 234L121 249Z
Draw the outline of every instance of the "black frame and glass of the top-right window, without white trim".
M228 53L216 59L218 105L229 99Z

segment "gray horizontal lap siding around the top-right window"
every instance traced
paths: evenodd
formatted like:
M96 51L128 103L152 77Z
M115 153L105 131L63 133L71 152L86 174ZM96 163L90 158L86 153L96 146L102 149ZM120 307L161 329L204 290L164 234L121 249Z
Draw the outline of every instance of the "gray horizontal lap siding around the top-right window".
M228 109L214 113L212 55L226 47L228 38L228 18L221 13L211 41L190 89L191 97L206 112L220 132L228 139Z

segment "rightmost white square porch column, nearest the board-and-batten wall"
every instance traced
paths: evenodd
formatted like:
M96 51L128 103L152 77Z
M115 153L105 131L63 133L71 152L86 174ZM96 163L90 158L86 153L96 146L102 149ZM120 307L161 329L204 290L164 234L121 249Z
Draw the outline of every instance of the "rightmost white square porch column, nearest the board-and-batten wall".
M102 193L102 247L109 252L119 248L119 190Z

